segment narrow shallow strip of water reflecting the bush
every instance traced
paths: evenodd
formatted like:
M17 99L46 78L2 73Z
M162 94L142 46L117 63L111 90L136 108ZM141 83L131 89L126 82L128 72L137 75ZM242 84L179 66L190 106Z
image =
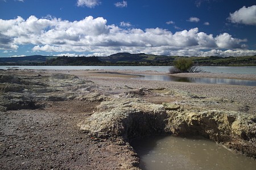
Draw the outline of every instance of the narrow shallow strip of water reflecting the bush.
M188 77L177 77L177 76L171 76L171 75L142 75L142 76L138 76L136 79L159 80L159 81L166 81L166 82L189 82L189 83L256 86L256 81L253 81L253 80L237 80L237 79L224 79L224 78L188 78Z

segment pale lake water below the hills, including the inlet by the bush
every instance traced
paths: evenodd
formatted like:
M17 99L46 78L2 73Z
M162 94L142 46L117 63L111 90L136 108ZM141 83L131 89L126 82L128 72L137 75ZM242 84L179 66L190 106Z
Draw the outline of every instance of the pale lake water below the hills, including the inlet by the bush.
M256 67L220 67L204 66L201 67L206 72L228 73L228 74L255 74ZM34 69L34 70L137 70L137 71L161 71L168 73L169 66L0 66L0 69ZM175 82L191 83L210 83L210 84L233 84L242 86L256 86L256 81L220 79L220 78L177 78L170 75L143 75L137 79L162 80Z

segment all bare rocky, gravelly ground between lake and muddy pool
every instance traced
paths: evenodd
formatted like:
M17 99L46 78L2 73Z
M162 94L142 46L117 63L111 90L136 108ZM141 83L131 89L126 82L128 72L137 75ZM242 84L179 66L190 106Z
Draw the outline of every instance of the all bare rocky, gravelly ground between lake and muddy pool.
M202 136L256 158L255 87L131 77L1 70L0 167L139 169L129 141L152 134Z

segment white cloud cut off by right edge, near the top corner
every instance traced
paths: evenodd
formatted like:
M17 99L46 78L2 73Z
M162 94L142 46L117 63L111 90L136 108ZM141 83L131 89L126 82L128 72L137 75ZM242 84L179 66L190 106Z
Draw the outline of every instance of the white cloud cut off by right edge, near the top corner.
M246 25L256 25L256 5L245 7L243 6L240 10L229 14L230 22Z

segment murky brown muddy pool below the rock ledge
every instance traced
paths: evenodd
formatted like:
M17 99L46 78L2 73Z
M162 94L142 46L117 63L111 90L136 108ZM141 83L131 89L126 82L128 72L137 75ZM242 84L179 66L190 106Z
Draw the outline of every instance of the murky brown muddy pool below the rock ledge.
M208 139L172 136L134 139L131 146L141 158L142 169L255 169L256 160Z

